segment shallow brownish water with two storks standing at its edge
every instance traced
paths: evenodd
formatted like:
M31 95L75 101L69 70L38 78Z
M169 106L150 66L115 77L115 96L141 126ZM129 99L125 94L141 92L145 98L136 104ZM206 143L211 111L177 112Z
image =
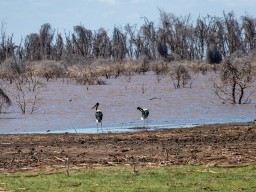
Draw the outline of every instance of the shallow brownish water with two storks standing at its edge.
M22 115L15 105L7 114L0 114L0 134L137 131L141 129L136 127L144 125L138 106L150 111L148 129L253 121L255 95L250 104L222 104L212 90L214 75L199 75L192 88L180 89L174 89L168 76L157 82L152 72L133 76L130 82L126 77L106 80L107 85L89 86L88 90L59 79L47 83L34 114ZM103 128L98 130L95 109L91 109L96 102L104 114Z

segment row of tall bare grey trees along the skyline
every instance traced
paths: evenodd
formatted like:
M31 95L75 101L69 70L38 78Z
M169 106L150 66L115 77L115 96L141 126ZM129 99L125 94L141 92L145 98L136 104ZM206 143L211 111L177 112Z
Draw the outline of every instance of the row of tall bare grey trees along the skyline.
M115 26L111 34L104 28L92 31L82 25L61 34L45 23L19 45L13 42L13 35L6 35L2 25L0 63L8 58L75 63L97 59L123 62L141 57L149 61L206 58L208 63L220 63L237 50L248 53L256 48L256 19L252 16L237 18L233 12L223 12L223 17L207 15L192 22L190 15L176 17L162 10L159 13L158 25L143 18L142 26Z

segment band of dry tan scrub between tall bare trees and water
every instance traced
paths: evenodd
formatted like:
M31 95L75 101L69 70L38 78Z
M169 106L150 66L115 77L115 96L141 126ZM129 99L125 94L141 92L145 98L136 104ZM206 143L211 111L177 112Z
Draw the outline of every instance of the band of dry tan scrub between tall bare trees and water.
M253 67L256 66L255 50L252 50L246 56L233 56L232 58L236 60L236 62L241 62L246 59ZM0 64L0 78L13 79L15 76L19 76L19 74L43 77L47 80L66 77L74 79L81 84L94 85L105 84L105 82L100 79L102 77L103 79L110 79L125 76L127 81L130 81L136 74L153 71L160 81L162 77L171 75L171 72L177 65L184 66L186 70L193 75L220 71L222 66L222 64L207 64L203 60L171 62L156 60L149 62L146 57L141 57L138 60L126 60L122 63L114 63L109 59L98 59L90 62L79 62L77 64L67 64L52 60L17 63L15 60L9 59Z

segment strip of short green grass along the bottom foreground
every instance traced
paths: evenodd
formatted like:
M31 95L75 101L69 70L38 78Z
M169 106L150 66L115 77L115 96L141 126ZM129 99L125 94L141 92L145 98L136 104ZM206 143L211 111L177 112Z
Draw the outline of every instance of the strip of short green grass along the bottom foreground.
M96 167L65 173L28 175L0 174L0 189L6 191L256 191L256 167L219 168L203 166L138 168ZM1 191L0 190L0 191Z

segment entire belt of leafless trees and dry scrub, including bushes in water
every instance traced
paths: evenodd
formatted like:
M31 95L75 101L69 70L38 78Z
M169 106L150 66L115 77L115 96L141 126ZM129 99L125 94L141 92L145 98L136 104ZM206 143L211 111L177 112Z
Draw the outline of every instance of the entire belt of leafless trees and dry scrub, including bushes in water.
M38 33L27 35L20 44L14 43L13 35L6 35L2 23L0 113L10 107L11 97L23 114L34 113L46 87L42 77L47 81L72 78L88 89L89 85L105 84L100 77L124 75L130 81L134 74L152 70L158 82L162 76L170 75L176 89L191 88L198 71L205 73L209 66L220 70L220 77L213 84L223 102L251 101L250 89L256 81L252 63L256 61L255 18L246 15L238 19L233 12L223 12L223 17L207 15L192 22L190 15L176 17L160 10L158 25L142 19L144 24L140 27L115 26L111 34L104 28L92 31L82 25L61 34L45 23ZM207 64L224 62L205 65L201 62L204 60ZM186 61L196 62L183 66Z

